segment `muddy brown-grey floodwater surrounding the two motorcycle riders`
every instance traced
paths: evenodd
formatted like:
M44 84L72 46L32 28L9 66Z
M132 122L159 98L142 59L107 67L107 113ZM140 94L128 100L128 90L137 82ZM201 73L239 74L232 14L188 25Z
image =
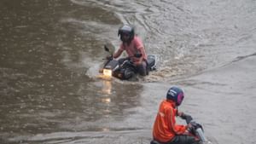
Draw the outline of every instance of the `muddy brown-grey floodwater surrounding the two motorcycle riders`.
M0 143L149 143L178 85L209 141L255 144L255 15L255 0L1 0ZM98 78L126 23L158 71Z

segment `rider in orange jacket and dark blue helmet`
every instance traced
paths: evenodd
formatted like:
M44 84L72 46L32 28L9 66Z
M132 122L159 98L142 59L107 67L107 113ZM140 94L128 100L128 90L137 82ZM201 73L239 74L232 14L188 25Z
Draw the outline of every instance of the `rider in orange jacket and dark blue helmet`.
M154 121L154 141L165 144L198 144L193 136L189 135L188 125L176 124L176 116L182 117L183 112L177 112L184 98L183 89L172 87L166 94L166 100L160 103L159 112Z

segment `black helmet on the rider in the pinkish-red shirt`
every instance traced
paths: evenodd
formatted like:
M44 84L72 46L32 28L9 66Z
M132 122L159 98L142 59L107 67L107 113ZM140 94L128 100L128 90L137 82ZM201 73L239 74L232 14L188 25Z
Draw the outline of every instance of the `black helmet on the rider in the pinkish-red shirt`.
M119 28L118 36L120 36L121 41L130 43L134 37L134 28L129 25L121 26Z

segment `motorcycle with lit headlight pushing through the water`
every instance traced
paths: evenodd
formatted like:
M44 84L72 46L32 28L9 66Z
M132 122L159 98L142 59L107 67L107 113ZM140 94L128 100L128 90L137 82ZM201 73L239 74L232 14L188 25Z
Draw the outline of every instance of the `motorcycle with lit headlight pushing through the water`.
M108 56L106 59L107 61L103 65L103 68L100 69L100 73L106 77L115 77L121 80L130 80L134 78L137 74L137 67L131 61L132 57L141 57L142 54L136 54L131 57L127 57L120 60L113 59L113 55L111 54L108 47L104 46L105 51L107 51L111 56ZM151 71L156 70L156 56L155 55L148 55L147 60L147 74Z

